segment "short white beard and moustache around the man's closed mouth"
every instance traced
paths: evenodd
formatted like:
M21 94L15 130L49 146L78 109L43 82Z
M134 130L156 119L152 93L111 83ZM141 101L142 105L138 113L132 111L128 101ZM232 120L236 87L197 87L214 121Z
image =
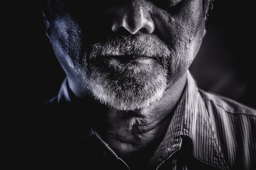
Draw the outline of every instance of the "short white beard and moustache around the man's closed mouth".
M103 57L113 55L150 58L128 63L116 59L102 62ZM89 88L97 100L118 110L147 107L165 93L170 56L171 51L165 43L151 34L96 43L87 53Z

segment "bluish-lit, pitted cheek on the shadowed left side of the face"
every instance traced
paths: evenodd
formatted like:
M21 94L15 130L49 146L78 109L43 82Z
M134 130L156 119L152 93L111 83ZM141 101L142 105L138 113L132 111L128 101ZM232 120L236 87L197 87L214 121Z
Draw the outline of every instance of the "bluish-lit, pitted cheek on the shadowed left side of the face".
M87 63L82 43L82 31L70 17L55 18L51 27L51 42L69 80L86 78ZM66 19L69 18L69 19Z

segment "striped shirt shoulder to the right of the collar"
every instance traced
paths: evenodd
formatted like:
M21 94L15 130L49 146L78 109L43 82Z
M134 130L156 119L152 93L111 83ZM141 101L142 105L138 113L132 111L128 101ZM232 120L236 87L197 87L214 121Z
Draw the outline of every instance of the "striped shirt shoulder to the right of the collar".
M229 167L256 166L256 110L227 97L199 91Z

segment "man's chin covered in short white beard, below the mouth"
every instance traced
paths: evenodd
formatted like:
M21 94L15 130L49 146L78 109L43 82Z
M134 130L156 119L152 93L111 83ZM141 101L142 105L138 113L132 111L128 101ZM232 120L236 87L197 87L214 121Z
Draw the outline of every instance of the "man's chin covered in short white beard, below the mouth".
M117 110L139 110L160 100L167 87L167 71L157 62L108 63L91 68L88 76L94 97Z

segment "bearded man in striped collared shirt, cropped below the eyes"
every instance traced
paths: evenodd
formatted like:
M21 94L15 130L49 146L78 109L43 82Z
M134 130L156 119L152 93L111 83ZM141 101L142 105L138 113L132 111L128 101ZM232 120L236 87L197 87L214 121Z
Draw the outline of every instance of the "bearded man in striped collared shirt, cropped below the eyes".
M188 71L210 3L42 0L46 35L66 73L44 104L55 113L43 127L43 164L256 168L256 110L198 89Z

